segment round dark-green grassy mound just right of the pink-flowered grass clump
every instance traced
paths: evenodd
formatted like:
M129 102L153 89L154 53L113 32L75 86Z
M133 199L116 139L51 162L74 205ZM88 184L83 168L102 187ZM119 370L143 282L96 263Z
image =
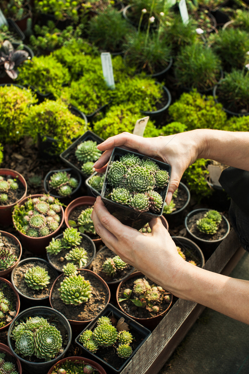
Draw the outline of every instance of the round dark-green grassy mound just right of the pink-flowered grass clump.
M188 88L206 90L220 79L220 58L201 43L181 47L174 64L178 83Z

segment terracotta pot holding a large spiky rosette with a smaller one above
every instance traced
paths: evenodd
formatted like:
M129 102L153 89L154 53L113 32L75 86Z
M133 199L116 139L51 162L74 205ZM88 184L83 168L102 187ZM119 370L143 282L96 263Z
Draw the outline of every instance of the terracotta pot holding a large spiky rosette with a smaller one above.
M109 287L106 284L106 282L99 275L97 275L96 273L92 272L91 270L88 270L88 269L78 269L78 270L80 270L80 273L83 274L83 276L84 276L85 279L87 279L87 273L90 273L91 275L93 275L94 277L96 277L101 283L103 283L103 285L106 288L107 294L108 294L108 297L107 297L108 300L106 302L106 304L108 304L109 301L110 301L110 298L111 298L111 293L110 293ZM52 288L50 290L49 303L50 303L50 305L51 305L52 308L53 308L53 290L58 288L58 286L59 286L58 283L60 281L62 281L63 278L64 278L64 274L60 274L56 278L56 280L53 283ZM65 307L66 307L66 304L65 304ZM92 321L92 319L89 319L88 321L75 321L73 319L68 319L68 322L71 325L71 327L74 328L74 329L76 329L76 330L79 329L79 328L80 329L83 328L84 326L88 325L91 321Z

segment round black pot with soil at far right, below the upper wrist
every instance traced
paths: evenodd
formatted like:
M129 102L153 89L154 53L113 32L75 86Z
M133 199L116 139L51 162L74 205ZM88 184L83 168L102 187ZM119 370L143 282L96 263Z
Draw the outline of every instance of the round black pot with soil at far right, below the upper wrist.
M221 224L217 233L214 234L215 236L200 232L196 227L196 221L199 218L202 218L208 210L211 209L194 209L193 211L189 212L189 214L187 214L184 221L187 230L187 237L193 240L200 247L204 254L205 260L207 260L211 256L211 254L215 251L215 249L230 231L230 224L227 218L222 215Z

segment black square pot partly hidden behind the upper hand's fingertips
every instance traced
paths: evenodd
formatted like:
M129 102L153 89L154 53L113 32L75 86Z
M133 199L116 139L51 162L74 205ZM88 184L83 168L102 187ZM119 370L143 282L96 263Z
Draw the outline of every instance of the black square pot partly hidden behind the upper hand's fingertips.
M78 139L76 139L65 151L60 154L60 158L70 167L83 175L84 179L87 179L89 175L85 175L81 170L82 163L78 161L75 157L75 150L77 146L86 141L86 140L93 140L96 141L97 144L100 144L104 141L104 139L100 138L98 135L94 134L92 131L86 131L85 134L81 135Z

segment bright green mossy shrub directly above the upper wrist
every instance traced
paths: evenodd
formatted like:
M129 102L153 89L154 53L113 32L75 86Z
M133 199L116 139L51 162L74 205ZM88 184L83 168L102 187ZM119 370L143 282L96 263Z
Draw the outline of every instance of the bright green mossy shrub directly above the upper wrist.
M201 96L196 90L183 93L170 105L169 114L174 121L184 123L188 130L222 130L227 120L222 104L216 104L213 96Z

